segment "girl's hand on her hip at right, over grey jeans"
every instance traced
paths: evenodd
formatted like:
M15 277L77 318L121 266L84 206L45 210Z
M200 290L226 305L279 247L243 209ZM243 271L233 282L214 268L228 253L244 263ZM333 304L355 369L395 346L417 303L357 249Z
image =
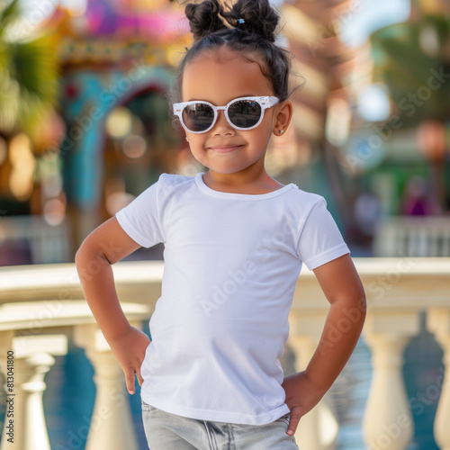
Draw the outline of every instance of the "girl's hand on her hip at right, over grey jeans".
M305 372L286 376L282 387L286 393L285 403L291 410L287 434L293 436L300 419L319 403L325 392L318 392Z

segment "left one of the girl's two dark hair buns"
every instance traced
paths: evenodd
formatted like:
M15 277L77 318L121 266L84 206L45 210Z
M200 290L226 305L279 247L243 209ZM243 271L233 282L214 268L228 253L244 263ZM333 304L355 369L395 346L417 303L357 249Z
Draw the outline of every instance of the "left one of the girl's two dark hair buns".
M187 4L184 10L193 40L201 40L209 34L226 28L220 19L222 8L218 0L206 0L201 4Z

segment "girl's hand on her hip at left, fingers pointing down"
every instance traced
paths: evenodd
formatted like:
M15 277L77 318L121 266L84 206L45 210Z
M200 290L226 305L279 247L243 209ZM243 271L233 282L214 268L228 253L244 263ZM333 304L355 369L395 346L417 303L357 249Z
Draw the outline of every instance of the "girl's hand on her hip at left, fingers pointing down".
M138 377L139 386L144 381L140 374L140 366L144 361L145 351L150 342L150 339L143 331L133 327L130 327L127 333L120 338L109 342L112 354L121 365L125 374L125 383L127 384L127 391L130 394L134 393L135 374Z

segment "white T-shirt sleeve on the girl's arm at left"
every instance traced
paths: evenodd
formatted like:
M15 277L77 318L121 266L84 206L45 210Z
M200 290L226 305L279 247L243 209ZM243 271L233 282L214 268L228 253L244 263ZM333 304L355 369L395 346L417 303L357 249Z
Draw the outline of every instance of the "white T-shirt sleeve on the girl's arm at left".
M158 213L160 184L161 177L115 215L121 228L142 247L164 242Z

